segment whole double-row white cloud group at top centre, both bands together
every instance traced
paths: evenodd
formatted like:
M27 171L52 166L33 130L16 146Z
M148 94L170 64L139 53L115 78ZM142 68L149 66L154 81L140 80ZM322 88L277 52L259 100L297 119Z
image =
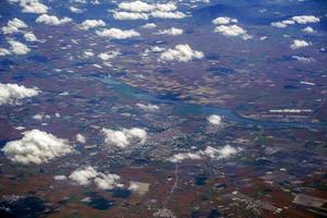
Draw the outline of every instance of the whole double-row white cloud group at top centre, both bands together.
M117 20L148 20L156 19L184 19L186 14L177 11L174 3L147 3L144 1L121 2L113 11Z

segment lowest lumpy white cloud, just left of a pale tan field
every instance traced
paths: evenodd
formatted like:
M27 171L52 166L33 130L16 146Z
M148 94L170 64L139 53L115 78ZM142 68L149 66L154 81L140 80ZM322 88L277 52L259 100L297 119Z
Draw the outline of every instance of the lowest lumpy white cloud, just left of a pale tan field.
M118 174L99 172L92 166L73 171L69 178L80 185L95 184L100 190L112 190L123 186L119 182L121 178Z

